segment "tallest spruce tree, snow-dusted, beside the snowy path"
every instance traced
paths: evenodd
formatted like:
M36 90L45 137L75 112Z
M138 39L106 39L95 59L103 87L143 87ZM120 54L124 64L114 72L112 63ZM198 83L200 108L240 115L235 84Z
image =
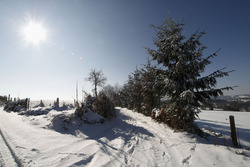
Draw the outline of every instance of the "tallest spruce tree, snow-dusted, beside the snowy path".
M184 25L169 17L162 25L152 26L156 30L153 41L157 50L146 49L152 59L162 66L158 74L164 80L163 91L170 98L170 105L165 108L165 122L174 129L190 130L200 112L198 107L232 87L216 88L216 78L228 76L231 72L225 72L225 68L202 76L217 52L204 57L206 46L200 39L205 32L196 31L186 38Z

